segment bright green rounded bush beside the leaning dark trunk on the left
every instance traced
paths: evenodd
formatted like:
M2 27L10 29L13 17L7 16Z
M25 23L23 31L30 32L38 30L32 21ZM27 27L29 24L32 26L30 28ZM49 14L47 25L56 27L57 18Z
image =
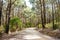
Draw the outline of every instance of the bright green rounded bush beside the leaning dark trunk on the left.
M16 30L17 27L21 29L22 25L22 21L18 17L14 17L10 20L10 29Z

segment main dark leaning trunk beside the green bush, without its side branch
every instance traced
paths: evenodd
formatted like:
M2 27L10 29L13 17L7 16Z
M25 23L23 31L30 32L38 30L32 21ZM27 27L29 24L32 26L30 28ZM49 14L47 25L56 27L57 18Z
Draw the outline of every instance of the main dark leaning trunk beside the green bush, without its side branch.
M9 0L8 6L7 6L7 15L6 15L6 30L5 33L8 34L9 32L9 23L10 23L10 13L11 13L11 0Z

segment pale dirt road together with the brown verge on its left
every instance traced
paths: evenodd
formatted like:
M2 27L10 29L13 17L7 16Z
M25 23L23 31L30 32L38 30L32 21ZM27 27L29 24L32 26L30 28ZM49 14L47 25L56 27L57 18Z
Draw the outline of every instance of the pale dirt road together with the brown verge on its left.
M16 34L3 35L0 40L59 40L40 33L35 28L26 28Z

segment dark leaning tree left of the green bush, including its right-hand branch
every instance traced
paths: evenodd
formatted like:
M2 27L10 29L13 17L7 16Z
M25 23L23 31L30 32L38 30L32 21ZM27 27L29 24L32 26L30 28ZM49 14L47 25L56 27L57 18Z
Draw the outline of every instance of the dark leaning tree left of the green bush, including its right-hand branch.
M12 2L12 0L8 0L7 11L6 11L6 29L5 29L5 33L7 34L9 33L11 7L15 3L15 1Z

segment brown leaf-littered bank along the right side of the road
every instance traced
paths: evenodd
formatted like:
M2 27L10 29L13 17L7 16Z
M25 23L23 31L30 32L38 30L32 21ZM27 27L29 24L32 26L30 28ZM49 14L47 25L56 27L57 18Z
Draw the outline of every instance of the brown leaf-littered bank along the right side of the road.
M56 30L44 29L44 30L40 30L39 32L49 35L51 37L60 38L60 30L59 29L56 29Z

